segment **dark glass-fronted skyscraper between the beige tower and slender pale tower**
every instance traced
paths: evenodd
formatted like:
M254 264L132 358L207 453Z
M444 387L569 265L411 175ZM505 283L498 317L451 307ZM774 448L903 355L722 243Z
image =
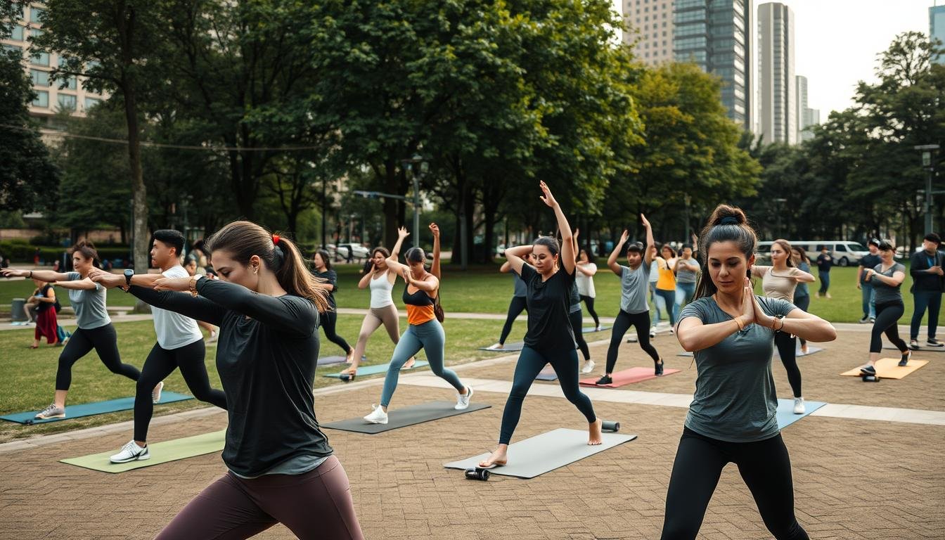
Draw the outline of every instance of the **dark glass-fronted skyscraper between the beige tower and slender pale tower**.
M696 62L722 78L722 103L729 117L754 128L751 0L676 0L673 56Z

